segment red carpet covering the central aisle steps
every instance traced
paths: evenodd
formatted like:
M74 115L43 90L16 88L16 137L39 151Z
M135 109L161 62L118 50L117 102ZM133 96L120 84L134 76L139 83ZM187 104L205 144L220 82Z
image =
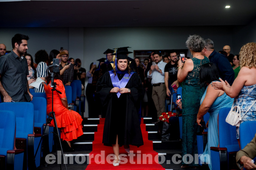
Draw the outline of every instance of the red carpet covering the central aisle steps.
M98 132L94 134L94 142L92 142L92 152L89 154L89 165L86 170L164 170L158 164L158 153L153 150L153 142L148 140L148 132L146 125L141 119L141 132L144 145L130 145L130 154L125 152L124 147L119 148L120 165L113 166L114 152L112 147L104 146L102 143L103 127L105 119L100 119Z

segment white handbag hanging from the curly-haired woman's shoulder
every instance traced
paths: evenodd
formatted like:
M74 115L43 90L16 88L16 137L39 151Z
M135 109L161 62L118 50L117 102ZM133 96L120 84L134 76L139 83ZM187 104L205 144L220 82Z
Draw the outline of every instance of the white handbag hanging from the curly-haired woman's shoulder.
M253 102L255 104L256 100ZM240 121L242 120L243 116L246 115L246 113L250 110L251 107L253 107L253 104L247 109L246 113L241 116L241 108L240 106L234 106L235 101L232 104L231 110L226 116L226 123L229 123L232 126L240 126Z

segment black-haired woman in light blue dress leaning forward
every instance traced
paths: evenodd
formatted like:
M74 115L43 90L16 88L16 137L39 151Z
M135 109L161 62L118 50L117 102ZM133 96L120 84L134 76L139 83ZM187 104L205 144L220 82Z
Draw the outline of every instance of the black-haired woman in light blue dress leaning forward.
M205 147L200 160L208 164L212 170L210 159L210 147L217 147L219 145L218 137L218 114L221 108L231 107L234 99L226 95L222 90L215 90L210 83L219 81L219 73L217 66L213 63L203 64L200 68L200 85L207 86L201 99L201 106L197 114L197 124L201 126L200 122L203 120L203 115L210 113L210 118L206 126L208 127L208 143Z

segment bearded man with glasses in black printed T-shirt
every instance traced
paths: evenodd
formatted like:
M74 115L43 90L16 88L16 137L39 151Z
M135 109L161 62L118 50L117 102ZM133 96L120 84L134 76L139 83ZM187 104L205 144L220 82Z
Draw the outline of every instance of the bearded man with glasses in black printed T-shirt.
M167 96L170 96L170 89L172 89L172 86L177 85L177 87L179 87L179 82L177 80L177 53L171 53L169 59L170 62L164 67L164 84Z

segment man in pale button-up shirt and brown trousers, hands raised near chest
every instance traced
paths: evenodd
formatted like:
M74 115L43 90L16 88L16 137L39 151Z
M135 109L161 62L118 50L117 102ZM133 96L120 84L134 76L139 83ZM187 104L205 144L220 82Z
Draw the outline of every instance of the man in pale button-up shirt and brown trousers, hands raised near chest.
M161 113L165 112L165 85L164 85L164 67L167 63L162 61L162 55L160 52L153 54L154 62L148 72L148 78L151 79L153 85L152 99L157 109L158 120Z

